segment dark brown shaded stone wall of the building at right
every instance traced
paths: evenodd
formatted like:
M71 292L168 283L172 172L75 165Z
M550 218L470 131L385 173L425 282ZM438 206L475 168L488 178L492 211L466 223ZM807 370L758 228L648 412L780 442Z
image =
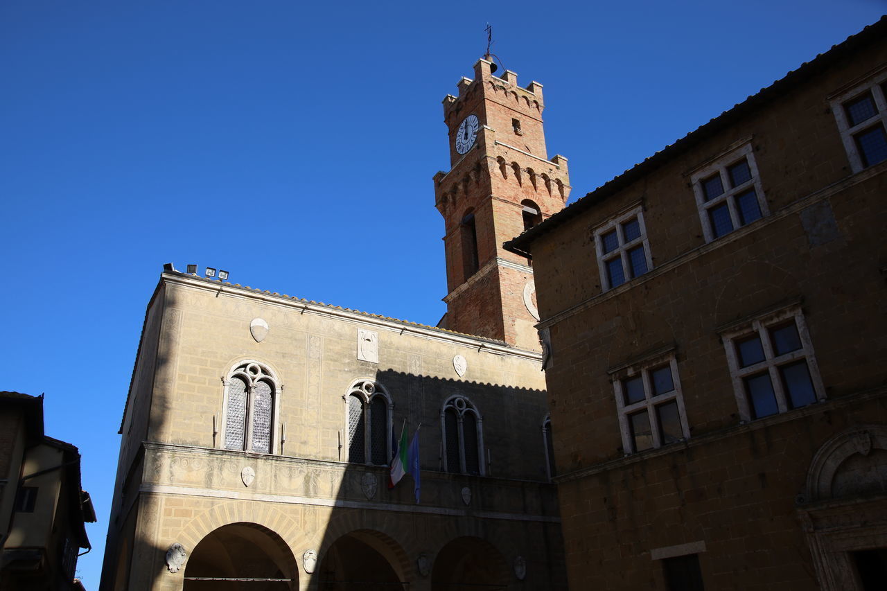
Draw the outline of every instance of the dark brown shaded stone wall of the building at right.
M708 590L810 589L836 563L844 583L824 588L853 588L849 552L887 543L881 500L861 524L850 508L828 517L824 530L843 541L811 545L820 506L805 496L832 437L887 424L887 163L852 174L829 107L883 65L887 44L844 55L533 243L571 588L664 588L659 558L672 550L698 553ZM706 243L691 175L748 144L769 215ZM594 231L637 207L653 268L604 291ZM803 312L825 399L742 422L722 332L789 303ZM616 368L663 350L677 360L689 437L631 453ZM835 493L851 506L872 494L852 474L883 469L867 437L851 485Z

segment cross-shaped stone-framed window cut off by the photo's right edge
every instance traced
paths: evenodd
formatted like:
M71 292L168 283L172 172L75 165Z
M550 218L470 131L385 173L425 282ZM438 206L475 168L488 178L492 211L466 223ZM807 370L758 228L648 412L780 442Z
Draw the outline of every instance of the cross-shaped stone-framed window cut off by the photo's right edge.
M887 160L887 70L829 98L853 172Z

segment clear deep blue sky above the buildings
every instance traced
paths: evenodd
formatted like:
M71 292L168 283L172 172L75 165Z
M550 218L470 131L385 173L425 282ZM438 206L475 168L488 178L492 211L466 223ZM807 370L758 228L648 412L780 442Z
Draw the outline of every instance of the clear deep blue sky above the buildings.
M441 100L494 27L574 199L877 20L875 0L0 3L0 390L46 393L98 510L164 263L434 325Z

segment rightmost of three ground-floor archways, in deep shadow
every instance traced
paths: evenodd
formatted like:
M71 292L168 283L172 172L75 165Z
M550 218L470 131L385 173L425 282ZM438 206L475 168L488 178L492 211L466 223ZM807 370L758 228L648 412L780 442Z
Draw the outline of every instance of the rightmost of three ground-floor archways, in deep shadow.
M499 591L508 588L505 558L480 538L451 540L431 571L432 591Z

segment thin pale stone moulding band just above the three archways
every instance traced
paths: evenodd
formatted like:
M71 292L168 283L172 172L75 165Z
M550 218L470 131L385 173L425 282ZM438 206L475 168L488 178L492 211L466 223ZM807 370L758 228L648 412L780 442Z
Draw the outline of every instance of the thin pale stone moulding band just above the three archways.
M481 519L506 519L508 521L530 521L549 524L560 524L559 517L544 515L522 515L518 513L502 513L498 511L463 511L443 507L421 507L412 505L396 505L392 503L365 503L359 500L312 499L293 494L263 494L235 491L219 491L210 488L175 485L141 485L139 493L174 494L190 497L204 497L228 500L259 500L284 503L289 505L313 505L316 507L357 508L370 511L396 511L399 513L424 513L428 515L444 515L455 517L479 517Z

